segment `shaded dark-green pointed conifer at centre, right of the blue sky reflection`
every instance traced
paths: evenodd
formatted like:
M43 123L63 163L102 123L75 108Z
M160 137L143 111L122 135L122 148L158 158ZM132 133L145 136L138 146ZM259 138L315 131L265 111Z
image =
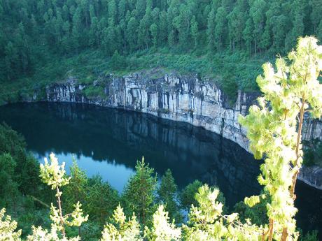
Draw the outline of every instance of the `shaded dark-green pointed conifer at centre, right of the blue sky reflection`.
M123 193L123 200L128 212L135 212L139 221L142 224L147 224L151 221L152 214L155 210L155 190L157 177L154 176L153 168L148 166L148 163L137 161L135 166L137 173L127 182Z

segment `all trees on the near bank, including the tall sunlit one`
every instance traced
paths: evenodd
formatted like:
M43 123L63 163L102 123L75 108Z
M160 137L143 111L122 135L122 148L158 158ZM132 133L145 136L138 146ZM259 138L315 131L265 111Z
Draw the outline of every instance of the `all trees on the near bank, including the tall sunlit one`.
M262 96L239 123L255 159L263 160L258 175L263 188L237 203L234 212L225 207L218 187L196 180L178 192L171 170L158 184L144 158L119 196L102 177L86 177L76 162L66 175L64 162L53 153L39 165L22 136L3 124L0 201L18 223L1 209L1 240L317 240L316 231L302 235L297 228L294 205L304 113L322 115L317 42L299 38L287 59L262 65L256 79Z

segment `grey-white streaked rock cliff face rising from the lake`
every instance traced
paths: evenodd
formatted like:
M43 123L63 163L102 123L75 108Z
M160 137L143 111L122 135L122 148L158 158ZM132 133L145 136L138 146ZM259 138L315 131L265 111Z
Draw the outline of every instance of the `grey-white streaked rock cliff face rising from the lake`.
M95 87L100 92L89 98L86 90ZM246 131L237 119L239 114L246 115L257 96L258 93L239 91L236 103L230 105L214 81L197 75L166 74L153 78L153 73L134 73L123 78L110 75L90 85L80 85L75 78L69 78L65 83L48 86L45 100L92 103L188 122L218 133L249 151ZM321 136L322 122L307 120L303 138L310 140ZM299 179L322 189L322 169L314 168L312 172L309 168L303 169Z

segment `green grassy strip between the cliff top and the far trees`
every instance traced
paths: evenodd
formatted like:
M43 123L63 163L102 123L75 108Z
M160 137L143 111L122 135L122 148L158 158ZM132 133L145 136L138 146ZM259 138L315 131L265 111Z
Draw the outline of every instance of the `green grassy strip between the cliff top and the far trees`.
M0 101L17 101L20 94L28 94L34 89L43 88L51 82L66 80L75 76L80 83L90 84L99 75L127 75L134 71L159 69L152 73L158 79L164 73L199 73L202 78L215 80L235 101L237 89L246 92L258 90L255 77L261 72L261 65L267 57L249 58L242 52L223 52L220 54L194 52L176 54L167 48L158 51L138 51L123 59L124 67L116 70L111 57L105 57L99 50L84 50L71 57L56 57L38 63L34 74L14 81L2 82ZM153 72L153 71L152 71ZM101 90L88 89L87 94L101 93Z

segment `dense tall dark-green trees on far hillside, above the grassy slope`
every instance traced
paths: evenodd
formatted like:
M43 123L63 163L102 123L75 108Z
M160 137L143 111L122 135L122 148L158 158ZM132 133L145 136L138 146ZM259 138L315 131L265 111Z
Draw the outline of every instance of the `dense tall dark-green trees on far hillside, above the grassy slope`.
M32 73L44 52L86 48L285 52L298 36L322 37L321 10L318 0L1 0L0 78Z

